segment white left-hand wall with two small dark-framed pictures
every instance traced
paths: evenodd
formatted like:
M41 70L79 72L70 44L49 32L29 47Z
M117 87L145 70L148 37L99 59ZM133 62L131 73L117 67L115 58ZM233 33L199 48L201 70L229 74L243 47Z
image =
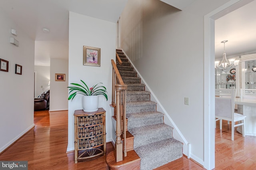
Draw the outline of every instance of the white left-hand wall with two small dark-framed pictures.
M34 126L34 40L0 10L0 58L9 71L0 71L0 152ZM11 28L18 36L10 33ZM10 37L19 41L17 47ZM15 74L22 65L22 75Z

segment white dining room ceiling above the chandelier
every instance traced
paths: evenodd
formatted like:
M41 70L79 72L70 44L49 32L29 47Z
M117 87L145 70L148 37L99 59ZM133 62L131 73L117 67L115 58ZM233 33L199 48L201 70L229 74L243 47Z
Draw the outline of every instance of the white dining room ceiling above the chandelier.
M228 58L256 53L256 0L215 20L215 56Z

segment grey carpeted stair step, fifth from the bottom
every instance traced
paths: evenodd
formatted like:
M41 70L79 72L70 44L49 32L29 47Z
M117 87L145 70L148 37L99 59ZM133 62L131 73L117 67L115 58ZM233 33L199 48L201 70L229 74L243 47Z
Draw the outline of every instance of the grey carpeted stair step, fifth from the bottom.
M150 101L149 91L127 91L126 102L130 101Z

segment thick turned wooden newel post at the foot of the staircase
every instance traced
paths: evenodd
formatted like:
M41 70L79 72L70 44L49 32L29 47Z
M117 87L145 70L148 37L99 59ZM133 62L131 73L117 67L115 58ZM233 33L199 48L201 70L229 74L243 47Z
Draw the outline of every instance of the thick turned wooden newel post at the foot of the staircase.
M120 85L115 85L116 88L116 162L122 161L123 160L123 148L122 148L122 142L121 142L121 112L120 112Z

